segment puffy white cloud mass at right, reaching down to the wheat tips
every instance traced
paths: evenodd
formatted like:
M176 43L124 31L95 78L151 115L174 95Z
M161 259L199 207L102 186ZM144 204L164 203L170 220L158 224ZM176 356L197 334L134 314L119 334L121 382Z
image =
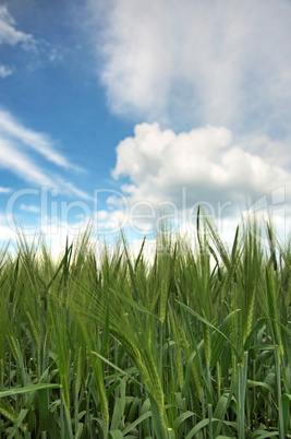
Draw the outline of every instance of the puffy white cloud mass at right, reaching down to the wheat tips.
M276 155L281 158L277 161ZM112 177L121 182L122 191L108 198L113 211L104 215L101 226L113 229L118 214L125 230L144 236L155 235L165 222L166 229L190 241L196 234L201 206L216 220L229 245L237 225L247 215L262 224L270 215L287 237L290 164L289 144L266 135L238 141L225 127L177 134L158 123L141 123L117 147Z

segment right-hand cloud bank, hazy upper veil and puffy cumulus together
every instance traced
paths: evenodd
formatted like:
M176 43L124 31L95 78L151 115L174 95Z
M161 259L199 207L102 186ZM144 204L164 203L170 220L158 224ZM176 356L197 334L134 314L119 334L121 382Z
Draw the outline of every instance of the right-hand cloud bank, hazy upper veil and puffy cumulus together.
M97 55L110 109L137 123L112 170L129 203L181 207L185 188L187 206L230 202L238 213L282 188L290 204L291 3L109 4L90 9L106 19Z

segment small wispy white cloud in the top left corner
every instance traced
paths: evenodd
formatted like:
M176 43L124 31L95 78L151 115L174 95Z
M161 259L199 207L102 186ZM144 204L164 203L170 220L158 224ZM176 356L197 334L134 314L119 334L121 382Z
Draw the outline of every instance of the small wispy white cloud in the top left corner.
M25 50L36 50L33 35L16 29L16 23L5 5L0 5L0 44L20 44Z

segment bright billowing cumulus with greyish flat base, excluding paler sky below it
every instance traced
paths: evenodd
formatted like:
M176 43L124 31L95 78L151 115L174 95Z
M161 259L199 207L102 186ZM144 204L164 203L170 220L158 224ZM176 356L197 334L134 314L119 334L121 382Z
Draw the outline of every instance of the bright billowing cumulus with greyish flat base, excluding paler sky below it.
M118 145L112 176L128 177L130 185L124 185L123 191L133 202L177 203L183 187L189 203L233 202L240 197L243 201L246 194L259 197L280 186L289 193L288 161L284 166L274 162L278 150L272 151L274 142L267 141L254 138L254 152L251 147L247 151L244 143L235 143L225 127L208 126L175 134L161 130L158 123L142 123L135 127L134 137ZM278 145L281 151L286 147L282 142Z

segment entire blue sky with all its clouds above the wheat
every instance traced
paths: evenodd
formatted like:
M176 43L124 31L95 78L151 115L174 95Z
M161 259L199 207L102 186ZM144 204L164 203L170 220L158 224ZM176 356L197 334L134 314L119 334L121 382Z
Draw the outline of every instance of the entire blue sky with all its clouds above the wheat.
M287 0L0 1L0 241L153 237L198 203L228 232L246 200L289 227L290 23Z

